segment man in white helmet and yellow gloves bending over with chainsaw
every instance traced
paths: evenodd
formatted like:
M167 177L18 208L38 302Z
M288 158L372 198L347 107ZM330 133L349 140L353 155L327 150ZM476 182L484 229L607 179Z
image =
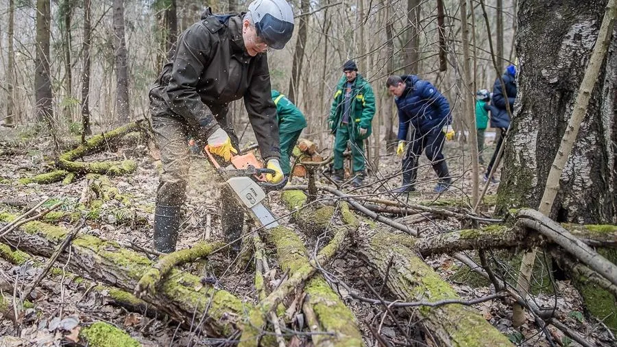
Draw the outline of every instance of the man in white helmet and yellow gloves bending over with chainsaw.
M285 0L254 0L245 14L213 14L208 8L179 37L149 93L152 128L162 161L156 191L154 247L176 250L181 206L186 198L192 134L199 147L229 162L239 141L227 119L231 101L243 98L267 175L283 178L276 106L270 95L268 49L282 49L293 32ZM244 213L229 189L221 192L221 219L228 241L239 238ZM228 230L225 230L225 229Z

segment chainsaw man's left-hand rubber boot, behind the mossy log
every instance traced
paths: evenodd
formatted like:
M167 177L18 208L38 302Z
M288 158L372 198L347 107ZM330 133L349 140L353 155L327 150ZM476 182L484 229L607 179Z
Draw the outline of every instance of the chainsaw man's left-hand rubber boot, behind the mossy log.
M154 248L158 252L176 252L181 214L180 206L156 205L153 239Z

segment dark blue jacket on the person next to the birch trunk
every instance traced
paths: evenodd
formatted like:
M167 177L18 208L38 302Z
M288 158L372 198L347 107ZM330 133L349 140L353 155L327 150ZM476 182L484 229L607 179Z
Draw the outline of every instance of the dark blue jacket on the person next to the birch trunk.
M493 86L493 97L491 99L491 126L493 128L508 128L510 126L510 117L506 110L506 103L510 106L510 112L514 112L514 99L516 99L516 77L514 74L516 71L509 69L503 76L503 84L505 84L505 91L501 88L501 82L499 79L495 80Z

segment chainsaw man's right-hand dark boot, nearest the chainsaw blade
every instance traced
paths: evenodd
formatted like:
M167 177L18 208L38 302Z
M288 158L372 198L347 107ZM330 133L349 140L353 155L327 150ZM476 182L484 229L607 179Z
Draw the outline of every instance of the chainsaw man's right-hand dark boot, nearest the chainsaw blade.
M225 241L231 243L230 251L237 254L242 245L239 238L242 236L244 226L244 209L239 205L233 194L226 187L221 190L221 228Z

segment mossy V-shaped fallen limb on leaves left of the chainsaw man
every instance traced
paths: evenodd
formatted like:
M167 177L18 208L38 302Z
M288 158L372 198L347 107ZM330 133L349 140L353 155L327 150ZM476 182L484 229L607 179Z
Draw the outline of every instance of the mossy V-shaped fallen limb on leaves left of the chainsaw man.
M124 135L138 131L142 121L136 121L122 125L119 128L90 137L88 141L77 146L77 148L64 152L58 157L57 166L60 169L75 173L100 173L110 175L123 175L130 173L137 168L134 160L104 161L104 162L77 162L77 158L82 158L88 154L93 154L101 149L107 148L110 143L120 141Z

